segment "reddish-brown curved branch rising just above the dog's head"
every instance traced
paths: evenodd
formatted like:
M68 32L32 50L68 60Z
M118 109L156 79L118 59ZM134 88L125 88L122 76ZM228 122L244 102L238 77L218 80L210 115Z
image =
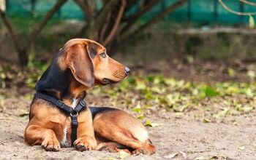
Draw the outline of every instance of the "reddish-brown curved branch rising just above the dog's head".
M116 31L118 29L118 26L120 25L120 21L121 21L121 17L123 16L124 14L124 9L125 9L125 6L127 5L127 1L126 0L121 0L121 7L118 11L118 15L116 17L116 22L115 24L113 25L113 28L112 30L110 31L110 33L108 34L108 37L105 39L105 41L103 41L103 45L105 46L106 44L108 44L110 41L113 40L113 38L115 37L116 35Z

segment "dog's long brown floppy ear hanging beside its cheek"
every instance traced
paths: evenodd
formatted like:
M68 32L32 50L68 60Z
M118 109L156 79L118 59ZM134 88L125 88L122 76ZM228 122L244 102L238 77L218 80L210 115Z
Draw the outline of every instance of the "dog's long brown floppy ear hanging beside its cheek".
M86 87L94 85L94 65L92 63L89 44L74 44L66 49L67 68L77 81Z

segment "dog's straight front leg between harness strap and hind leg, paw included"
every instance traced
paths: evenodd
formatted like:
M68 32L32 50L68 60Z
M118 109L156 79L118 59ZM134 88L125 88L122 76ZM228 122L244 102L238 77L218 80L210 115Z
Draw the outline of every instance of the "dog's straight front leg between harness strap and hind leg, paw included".
M78 138L74 145L78 151L86 151L96 148L97 142L94 137L94 128L92 127L91 112L83 111L78 116Z

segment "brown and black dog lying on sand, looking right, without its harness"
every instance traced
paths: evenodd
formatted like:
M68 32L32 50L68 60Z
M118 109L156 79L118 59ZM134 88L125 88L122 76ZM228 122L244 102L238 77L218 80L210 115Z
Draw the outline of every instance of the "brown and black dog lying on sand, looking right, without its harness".
M112 84L129 74L129 68L106 54L105 47L89 39L71 39L64 44L37 82L37 92L75 108L96 84ZM145 127L116 108L90 107L78 114L77 139L71 143L71 118L53 103L34 97L30 106L25 142L42 145L46 151L71 147L78 151L124 151L152 154L154 145Z

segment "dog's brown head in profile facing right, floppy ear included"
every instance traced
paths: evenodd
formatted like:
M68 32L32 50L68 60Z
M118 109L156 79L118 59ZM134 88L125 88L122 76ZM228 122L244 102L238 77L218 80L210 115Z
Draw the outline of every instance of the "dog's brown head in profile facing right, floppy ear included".
M86 87L113 84L129 74L129 68L110 58L105 47L96 41L71 39L61 52L60 68L69 68L75 80Z

